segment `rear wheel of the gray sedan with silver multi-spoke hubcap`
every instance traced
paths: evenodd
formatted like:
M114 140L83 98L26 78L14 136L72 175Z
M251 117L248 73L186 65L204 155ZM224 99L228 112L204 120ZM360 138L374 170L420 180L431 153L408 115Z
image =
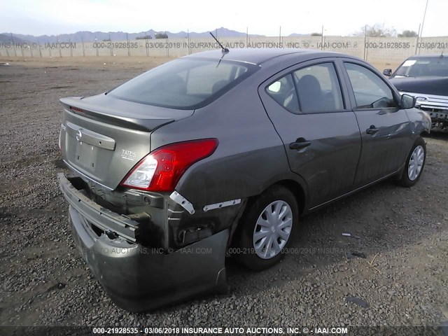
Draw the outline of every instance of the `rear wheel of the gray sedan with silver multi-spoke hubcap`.
M246 207L237 232L237 257L246 267L262 270L279 262L299 218L290 190L272 186Z

